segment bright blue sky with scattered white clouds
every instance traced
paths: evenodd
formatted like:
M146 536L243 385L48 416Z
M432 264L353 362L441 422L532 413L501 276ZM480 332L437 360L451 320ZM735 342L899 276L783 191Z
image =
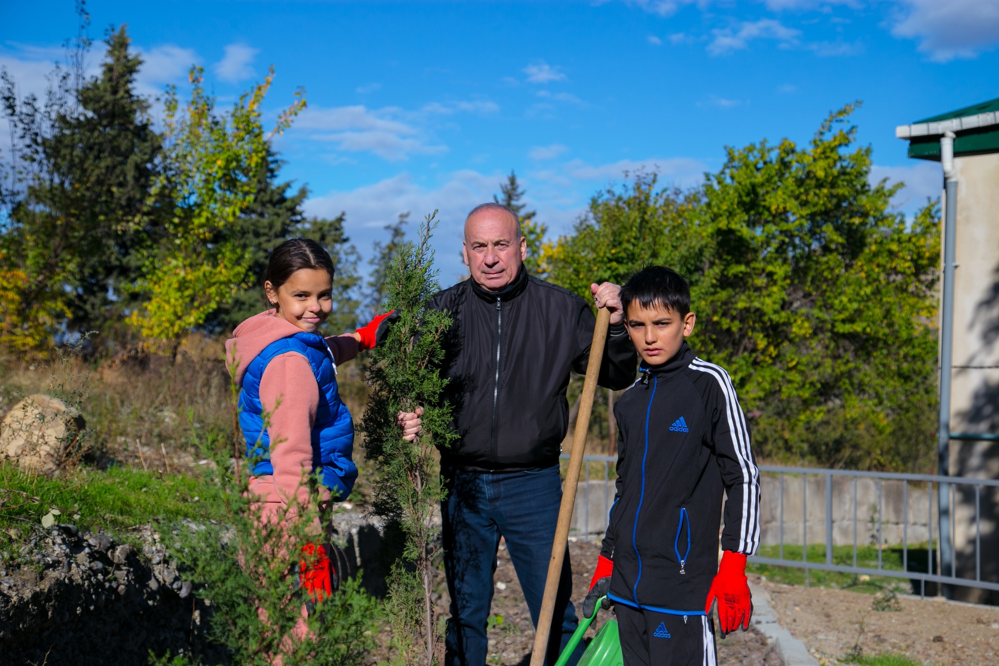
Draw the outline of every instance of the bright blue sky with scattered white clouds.
M112 2L91 36L127 23L155 95L203 65L233 100L273 64L273 113L311 214L347 213L365 253L403 211L441 209L442 281L462 274L464 214L515 170L551 235L625 170L689 186L724 146L806 142L853 100L875 176L905 180L911 212L940 188L894 127L999 97L999 0L603 2ZM69 0L0 0L0 66L23 93L75 33ZM96 68L95 48L90 67Z

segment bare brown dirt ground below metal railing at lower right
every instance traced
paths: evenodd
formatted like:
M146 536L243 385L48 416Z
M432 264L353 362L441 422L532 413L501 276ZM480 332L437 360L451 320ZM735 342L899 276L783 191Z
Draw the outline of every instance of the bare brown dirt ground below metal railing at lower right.
M777 621L820 663L861 654L901 653L917 663L999 663L999 608L900 596L900 611L875 611L874 596L850 590L761 584Z

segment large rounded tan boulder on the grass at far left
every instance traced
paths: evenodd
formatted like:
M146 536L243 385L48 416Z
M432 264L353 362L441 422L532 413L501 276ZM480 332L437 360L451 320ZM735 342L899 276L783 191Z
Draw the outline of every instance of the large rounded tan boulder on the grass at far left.
M80 412L59 398L29 395L0 422L0 460L10 458L26 471L51 474L85 426Z

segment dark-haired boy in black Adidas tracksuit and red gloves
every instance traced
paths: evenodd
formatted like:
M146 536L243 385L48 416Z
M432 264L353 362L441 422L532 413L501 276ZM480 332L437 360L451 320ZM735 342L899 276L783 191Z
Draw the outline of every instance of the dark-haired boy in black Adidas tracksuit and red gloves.
M686 281L648 267L620 301L642 372L614 404L617 491L583 615L603 595L615 605L625 666L714 666L712 602L722 636L748 628L752 613L745 563L759 542L759 471L749 430L728 373L683 339L695 320Z

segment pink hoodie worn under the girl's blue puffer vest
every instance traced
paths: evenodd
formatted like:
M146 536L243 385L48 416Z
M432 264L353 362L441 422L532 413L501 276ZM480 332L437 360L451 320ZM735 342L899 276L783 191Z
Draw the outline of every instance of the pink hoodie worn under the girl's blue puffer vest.
M236 365L236 382L243 385L247 366L268 344L302 330L275 316L269 310L251 317L236 328L226 341L226 356ZM327 337L337 364L358 355L358 341L350 333ZM275 408L278 400L281 404ZM273 476L253 477L250 489L263 501L287 503L299 489L299 501L305 501L308 491L300 487L303 470L312 470L312 426L319 407L319 385L309 361L300 353L288 351L275 356L264 370L260 382L260 399L266 411L272 412L268 433L271 441L280 442L271 450ZM329 498L329 493L324 499Z

